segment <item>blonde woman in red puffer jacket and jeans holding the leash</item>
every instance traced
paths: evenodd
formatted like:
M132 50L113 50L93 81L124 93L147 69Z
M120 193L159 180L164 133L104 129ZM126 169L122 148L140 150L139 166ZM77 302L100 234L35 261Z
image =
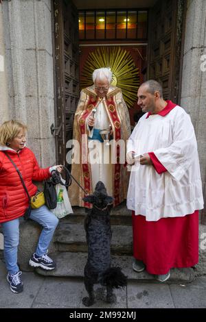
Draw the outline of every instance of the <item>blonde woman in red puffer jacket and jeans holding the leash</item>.
M43 181L50 177L53 169L61 171L62 166L41 169L34 153L25 147L27 127L17 121L7 121L0 126L0 223L3 227L4 258L8 269L7 280L13 293L23 291L21 271L17 264L19 245L19 217L23 216L29 199L14 164L19 169L30 197L37 192L32 180ZM6 153L6 154L5 154ZM12 159L12 162L10 161ZM47 249L58 224L56 216L44 205L31 212L30 219L43 226L36 252L29 264L45 270L55 269L56 264L47 256Z

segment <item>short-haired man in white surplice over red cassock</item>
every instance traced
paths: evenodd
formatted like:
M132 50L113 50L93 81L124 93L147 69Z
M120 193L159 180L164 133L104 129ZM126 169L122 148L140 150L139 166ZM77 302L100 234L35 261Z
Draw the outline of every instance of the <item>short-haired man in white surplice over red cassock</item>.
M203 193L196 136L190 116L163 99L158 82L145 82L137 96L146 114L126 155L132 165L127 207L133 210L133 269L146 268L165 282L170 269L198 262Z

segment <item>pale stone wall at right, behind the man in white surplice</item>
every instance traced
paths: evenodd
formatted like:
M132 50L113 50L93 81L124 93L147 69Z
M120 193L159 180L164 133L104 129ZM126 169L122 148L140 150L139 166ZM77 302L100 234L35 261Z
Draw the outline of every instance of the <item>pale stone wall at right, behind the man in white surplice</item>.
M206 55L205 12L205 0L187 0L181 106L190 113L196 132L206 203L206 68L201 60Z

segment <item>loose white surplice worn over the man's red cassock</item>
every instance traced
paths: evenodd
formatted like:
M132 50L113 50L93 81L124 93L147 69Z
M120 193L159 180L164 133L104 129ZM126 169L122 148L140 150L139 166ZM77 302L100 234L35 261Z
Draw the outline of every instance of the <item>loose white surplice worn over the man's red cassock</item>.
M146 221L178 217L203 209L203 192L196 136L190 116L176 106L167 115L148 113L139 119L128 140L127 152L154 152L168 170L154 166L132 167L127 207Z

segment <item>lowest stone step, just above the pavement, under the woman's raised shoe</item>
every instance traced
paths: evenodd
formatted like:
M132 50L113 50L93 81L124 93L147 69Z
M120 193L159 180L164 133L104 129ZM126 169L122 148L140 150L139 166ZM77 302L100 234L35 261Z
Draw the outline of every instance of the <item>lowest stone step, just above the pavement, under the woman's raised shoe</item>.
M55 277L84 277L84 266L87 262L87 253L59 252L51 254L52 259L56 262L56 270L44 271L36 269L40 275L55 276ZM136 273L132 269L132 256L111 256L111 266L121 267L122 272L128 277L128 280L139 280L155 282L155 275L150 275L146 271ZM190 283L194 280L194 270L189 269L172 269L170 279L167 283L180 282L181 284Z

